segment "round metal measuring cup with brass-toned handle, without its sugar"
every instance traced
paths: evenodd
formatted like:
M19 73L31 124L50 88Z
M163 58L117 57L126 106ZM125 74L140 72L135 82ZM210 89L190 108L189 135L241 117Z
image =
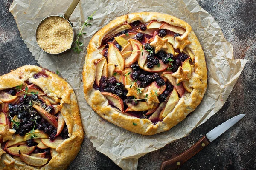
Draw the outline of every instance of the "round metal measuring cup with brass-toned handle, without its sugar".
M64 18L65 20L67 20L67 22L70 23L70 26L71 26L72 29L73 29L73 40L72 40L72 44L74 43L76 36L75 36L75 32L74 32L73 25L72 25L72 23L70 22L69 18L70 18L70 15L73 13L74 9L76 8L77 4L79 3L79 1L80 1L80 0L73 0L73 2L71 3L71 5L70 5L69 8L67 9L67 11L65 12L65 14L64 14L63 17L60 16L60 15L50 15L50 16L45 17L43 20L40 21L40 23L38 24L38 26L37 26L36 29L35 29L35 40L36 40L37 45L38 45L38 42L37 42L37 38L36 38L36 37L37 37L38 27L40 26L40 24L41 24L45 19L47 19L47 18L49 18L49 17L53 17L53 16L62 17L62 18ZM70 45L70 48L68 48L67 50L62 51L62 52L60 52L60 53L49 53L49 52L47 52L47 51L44 51L39 45L38 45L38 46L39 46L39 48L41 48L41 50L43 50L44 52L46 52L46 53L48 53L48 54L60 55L60 54L66 53L67 51L70 51L72 44Z

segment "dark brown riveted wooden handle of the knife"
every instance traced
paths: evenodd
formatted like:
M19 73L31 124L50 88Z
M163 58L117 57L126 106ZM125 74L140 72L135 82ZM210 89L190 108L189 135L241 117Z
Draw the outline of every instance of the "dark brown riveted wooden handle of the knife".
M188 150L180 153L175 158L170 159L168 161L164 161L161 164L161 170L175 170L184 164L187 160L192 158L195 154L197 154L200 150L204 149L209 144L209 140L203 136L198 142L196 142L192 147Z

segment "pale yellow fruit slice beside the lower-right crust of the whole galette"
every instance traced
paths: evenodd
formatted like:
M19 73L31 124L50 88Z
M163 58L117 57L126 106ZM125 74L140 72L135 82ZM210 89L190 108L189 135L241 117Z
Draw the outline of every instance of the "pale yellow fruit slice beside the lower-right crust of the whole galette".
M179 95L177 93L177 90L173 88L172 94L170 95L168 102L166 103L165 108L160 113L160 119L165 118L176 106L177 102L179 101Z

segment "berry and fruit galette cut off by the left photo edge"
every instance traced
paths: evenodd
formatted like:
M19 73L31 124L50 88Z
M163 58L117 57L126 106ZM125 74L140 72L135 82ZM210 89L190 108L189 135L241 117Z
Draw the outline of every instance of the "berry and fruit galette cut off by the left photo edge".
M0 77L0 169L63 170L84 133L70 85L26 65Z

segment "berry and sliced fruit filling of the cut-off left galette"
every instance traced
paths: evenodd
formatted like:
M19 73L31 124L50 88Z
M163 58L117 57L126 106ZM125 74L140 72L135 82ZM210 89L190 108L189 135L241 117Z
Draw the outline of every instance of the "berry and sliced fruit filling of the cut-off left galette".
M57 154L58 145L69 138L59 104L59 98L47 96L29 82L1 90L0 155L8 153L17 161L37 167L47 164Z

